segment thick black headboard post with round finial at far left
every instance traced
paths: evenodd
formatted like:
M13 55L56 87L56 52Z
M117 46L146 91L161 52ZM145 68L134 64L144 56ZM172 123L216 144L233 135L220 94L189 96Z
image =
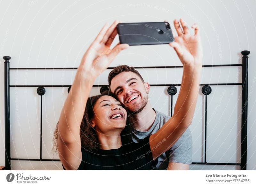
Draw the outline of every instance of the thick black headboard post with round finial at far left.
M10 56L4 56L5 170L11 170L10 138Z

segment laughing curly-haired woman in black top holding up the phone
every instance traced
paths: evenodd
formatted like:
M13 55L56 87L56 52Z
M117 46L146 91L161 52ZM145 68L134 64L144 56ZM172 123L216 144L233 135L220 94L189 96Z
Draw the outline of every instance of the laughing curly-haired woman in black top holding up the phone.
M170 149L192 122L202 69L200 55L197 58L201 50L197 26L194 26L194 36L183 38L187 45L180 45L182 42L177 38L175 41L179 43L170 44L183 63L181 89L187 89L187 94L175 105L180 112L155 134L139 143L122 143L122 131L129 131L132 125L131 121L127 123L126 110L110 93L88 99L95 79L121 50L129 46L118 43L110 49L117 34L117 24L115 21L108 29L105 25L85 52L63 106L55 142L66 170L150 170L154 160ZM142 94L147 94L146 90Z

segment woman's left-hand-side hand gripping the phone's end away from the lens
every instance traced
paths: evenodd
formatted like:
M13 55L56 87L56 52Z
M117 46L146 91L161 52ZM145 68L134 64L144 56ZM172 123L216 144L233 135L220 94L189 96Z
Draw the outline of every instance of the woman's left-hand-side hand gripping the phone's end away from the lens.
M83 75L90 78L96 78L108 68L116 55L123 49L129 47L128 44L118 43L113 49L110 48L115 36L117 35L115 21L109 28L108 24L100 30L95 40L85 52L78 69L82 70Z

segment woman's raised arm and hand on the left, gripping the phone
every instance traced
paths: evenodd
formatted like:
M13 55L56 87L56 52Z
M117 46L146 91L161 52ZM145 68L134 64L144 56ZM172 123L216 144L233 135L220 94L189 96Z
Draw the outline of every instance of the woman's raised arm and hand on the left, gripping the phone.
M110 49L117 34L117 24L115 21L109 28L106 24L85 52L62 108L58 122L58 151L66 170L77 170L81 163L80 126L93 82L116 55L129 46L118 43Z

